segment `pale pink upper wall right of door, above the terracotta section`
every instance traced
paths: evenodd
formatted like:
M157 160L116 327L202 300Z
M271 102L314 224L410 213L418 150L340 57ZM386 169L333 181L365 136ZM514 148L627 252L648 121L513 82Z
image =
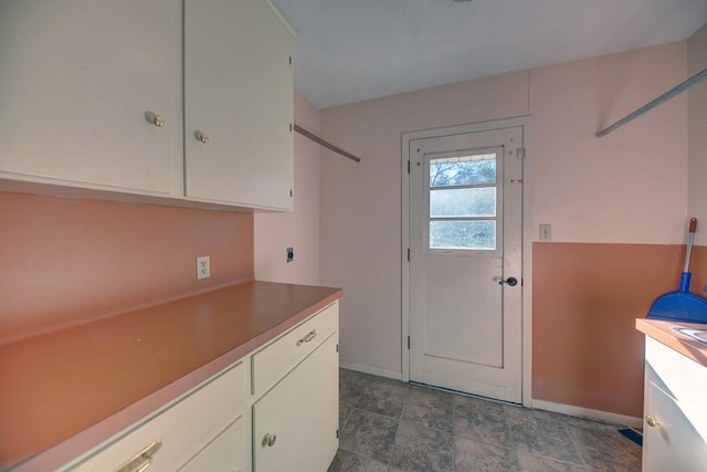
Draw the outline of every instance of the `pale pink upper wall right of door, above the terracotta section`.
M684 242L686 95L594 133L684 81L685 61L680 42L530 72L534 229L551 223L562 242Z

